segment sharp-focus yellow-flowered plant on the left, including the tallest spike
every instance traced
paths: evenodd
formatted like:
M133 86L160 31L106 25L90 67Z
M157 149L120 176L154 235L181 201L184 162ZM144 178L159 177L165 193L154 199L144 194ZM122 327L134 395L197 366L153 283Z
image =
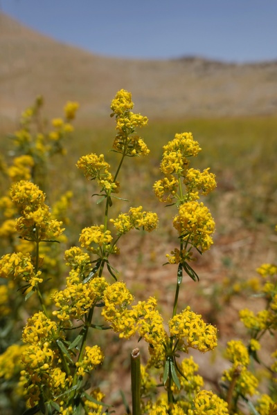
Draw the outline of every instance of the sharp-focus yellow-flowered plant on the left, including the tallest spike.
M40 249L44 243L57 242L64 228L61 221L52 218L45 203L46 196L37 185L30 181L12 185L12 202L21 212L16 228L22 239L34 244L35 256L23 252L4 255L0 264L1 277L19 279L24 284L21 291L26 293L26 300L36 293L41 305L41 311L28 319L22 338L26 346L21 356L23 369L19 387L21 391L24 389L22 393L26 395L27 407L30 408L26 413L41 411L66 415L82 411L86 414L102 412L104 404L100 401L104 395L98 389L87 393L86 379L104 358L97 344L92 347L87 344L89 329L109 328L92 322L96 307L105 305L109 308L112 304L107 294L111 284L103 272L107 270L116 279L116 270L109 263L109 255L119 253L116 243L123 234L133 228L151 232L158 222L157 214L146 212L141 206L130 208L129 212L120 214L118 218L109 218L113 199L119 199L116 196L120 187L117 178L123 160L149 153L143 139L136 134L136 128L143 127L148 120L132 113L132 107L131 94L123 90L111 103L117 129L113 147L120 154L114 175L102 154L90 154L78 160L78 168L87 178L96 180L100 188L98 202L105 202L103 223L82 230L81 248L73 246L66 250L64 255L70 267L69 276L66 277L65 288L51 295L56 307L52 313L40 290L44 280L40 269L43 263ZM114 235L109 230L112 225ZM69 341L68 333L73 331L78 334L73 341Z

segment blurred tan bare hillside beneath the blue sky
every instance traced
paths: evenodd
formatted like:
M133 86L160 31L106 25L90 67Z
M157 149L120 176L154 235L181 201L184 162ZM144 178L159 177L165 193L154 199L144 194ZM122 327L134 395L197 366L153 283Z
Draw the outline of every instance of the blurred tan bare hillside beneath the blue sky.
M80 120L102 118L121 88L152 118L253 116L277 112L277 61L226 64L199 57L155 61L93 55L0 14L0 121L15 120L42 94L49 115L66 100Z

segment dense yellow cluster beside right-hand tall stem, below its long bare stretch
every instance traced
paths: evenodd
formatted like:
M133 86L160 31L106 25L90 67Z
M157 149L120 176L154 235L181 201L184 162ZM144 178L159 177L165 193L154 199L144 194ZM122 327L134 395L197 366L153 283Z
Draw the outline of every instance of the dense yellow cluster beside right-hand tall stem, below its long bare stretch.
M172 317L168 325L170 335L186 340L184 344L186 350L192 347L206 352L217 347L217 329L211 324L206 324L201 315L190 311L190 306Z

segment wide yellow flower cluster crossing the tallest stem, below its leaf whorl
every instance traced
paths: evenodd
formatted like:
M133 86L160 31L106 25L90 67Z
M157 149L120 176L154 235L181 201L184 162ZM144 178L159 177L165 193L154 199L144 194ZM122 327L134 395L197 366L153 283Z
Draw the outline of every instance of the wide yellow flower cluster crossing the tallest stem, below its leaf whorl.
M55 291L51 298L58 310L53 311L59 320L64 322L70 318L81 319L89 308L102 299L103 292L107 288L104 277L94 277L87 284L80 280L78 270L71 270L66 278L66 288Z

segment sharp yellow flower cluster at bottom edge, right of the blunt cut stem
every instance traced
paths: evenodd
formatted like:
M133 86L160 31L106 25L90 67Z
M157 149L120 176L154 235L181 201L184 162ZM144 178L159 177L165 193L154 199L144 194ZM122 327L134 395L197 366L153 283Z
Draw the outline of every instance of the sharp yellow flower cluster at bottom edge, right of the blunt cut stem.
M195 409L188 409L188 415L228 415L228 404L212 391L200 391L193 401Z

